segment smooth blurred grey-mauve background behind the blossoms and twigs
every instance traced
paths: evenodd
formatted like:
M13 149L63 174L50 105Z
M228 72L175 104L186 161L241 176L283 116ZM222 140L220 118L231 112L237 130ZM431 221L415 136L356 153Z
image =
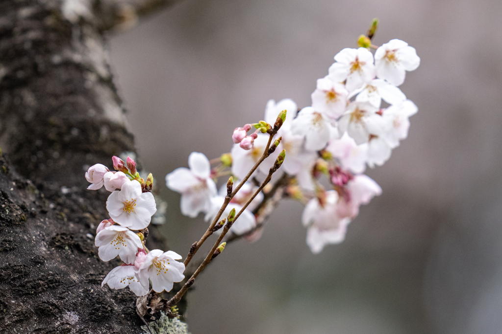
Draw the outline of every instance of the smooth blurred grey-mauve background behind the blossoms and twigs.
M502 2L184 0L111 38L111 63L145 167L187 253L206 228L164 176L190 152L228 152L265 104L310 105L333 56L373 17L374 44L422 59L401 87L409 138L367 174L384 192L346 241L313 255L302 205L285 201L256 243L234 243L189 294L189 329L212 333L502 332Z

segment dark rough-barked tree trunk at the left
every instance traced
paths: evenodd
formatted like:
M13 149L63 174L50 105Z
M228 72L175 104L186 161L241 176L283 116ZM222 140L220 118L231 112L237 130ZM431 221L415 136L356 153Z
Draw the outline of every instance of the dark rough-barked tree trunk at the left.
M83 177L135 151L102 35L123 20L105 15L116 3L94 5L71 23L60 1L0 0L2 333L141 332L136 296L100 286L119 261L97 257L107 194ZM155 228L147 246L167 250Z

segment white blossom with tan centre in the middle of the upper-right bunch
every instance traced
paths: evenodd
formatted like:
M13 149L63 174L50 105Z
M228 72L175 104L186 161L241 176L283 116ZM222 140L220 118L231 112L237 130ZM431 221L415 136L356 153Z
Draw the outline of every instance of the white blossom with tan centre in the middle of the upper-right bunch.
M384 129L384 120L377 114L378 109L366 102L352 102L338 121L340 133L347 132L356 144L369 140L370 134L380 134Z

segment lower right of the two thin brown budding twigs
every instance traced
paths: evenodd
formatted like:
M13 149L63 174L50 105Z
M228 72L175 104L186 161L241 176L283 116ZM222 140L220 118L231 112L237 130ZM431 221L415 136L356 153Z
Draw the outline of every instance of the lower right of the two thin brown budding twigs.
M273 135L271 135L271 138L272 137L273 137ZM269 144L270 144L270 141L269 141ZM267 150L265 152L267 152L267 151L268 151L268 148L267 148ZM207 256L204 259L204 261L199 265L199 267L197 268L197 270L193 273L192 277L190 277L190 279L183 285L183 287L178 291L178 293L176 293L166 303L167 307L174 306L174 305L176 305L176 303L178 301L181 300L181 297L183 297L183 295L186 293L186 291L195 282L195 278L199 275L200 272L202 272L202 270L204 270L204 268L206 267L206 265L211 261L216 248L218 248L218 246L220 245L221 240L223 240L223 238L225 237L225 235L228 232L228 230L230 229L230 227L232 227L232 224L237 220L237 218L242 214L242 212L244 212L244 210L247 208L247 206L249 205L249 203L251 203L255 199L255 197L262 191L262 189L270 182L270 180L272 179L272 174L274 174L277 171L278 168L279 167L276 166L276 164L275 164L270 169L269 174L267 175L267 177L263 181L262 185L255 191L255 193L253 194L253 196L247 200L246 204L244 204L244 206L242 206L242 208L240 209L240 211L235 215L235 218L233 219L233 221L228 221L225 224L225 226L223 227L223 231L221 232L220 236L218 237L218 239L214 243L214 245L211 248L211 250L209 251L209 253L207 253Z

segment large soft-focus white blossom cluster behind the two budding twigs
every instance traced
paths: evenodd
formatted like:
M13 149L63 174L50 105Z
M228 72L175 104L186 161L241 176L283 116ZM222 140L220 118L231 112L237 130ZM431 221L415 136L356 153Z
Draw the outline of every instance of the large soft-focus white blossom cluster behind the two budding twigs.
M406 72L420 65L415 49L400 40L374 47L365 36L358 44L359 48L343 49L334 57L328 75L317 80L311 106L298 111L291 99L270 100L264 121L234 130L233 147L217 161L218 166L211 169L210 161L194 152L189 157L190 169L178 168L168 174L167 186L182 194L182 213L195 217L203 212L206 220L215 216L224 201L215 181L228 173L236 179L246 176L270 144L271 124L279 114L283 122L273 139L287 156L281 166L289 180L284 194L306 203L302 223L308 228L307 244L318 253L326 244L341 242L359 206L382 193L363 174L366 166L381 166L390 158L408 136L409 117L418 111L398 88ZM265 159L249 179L259 184L276 156ZM326 190L322 177L331 189ZM260 227L261 208L267 205L262 200L270 200L269 191L278 187L270 188L255 198L230 231L248 235ZM226 210L239 210L252 189L251 183L242 187Z

